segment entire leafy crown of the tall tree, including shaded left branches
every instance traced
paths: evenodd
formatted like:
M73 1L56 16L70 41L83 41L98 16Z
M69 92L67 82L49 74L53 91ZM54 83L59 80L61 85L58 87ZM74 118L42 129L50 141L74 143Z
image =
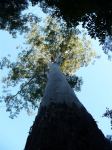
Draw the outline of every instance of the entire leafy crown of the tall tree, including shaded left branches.
M36 108L42 96L47 82L49 62L55 62L60 57L61 70L65 74L71 87L80 90L81 78L74 73L77 69L87 66L95 51L91 49L90 42L83 35L80 39L78 31L67 28L63 21L48 17L43 25L32 25L31 31L26 36L28 49L18 55L17 61L10 62L4 58L1 68L9 68L9 74L3 79L5 85L5 100L7 111L13 118L22 108ZM19 87L16 94L11 93L11 87Z

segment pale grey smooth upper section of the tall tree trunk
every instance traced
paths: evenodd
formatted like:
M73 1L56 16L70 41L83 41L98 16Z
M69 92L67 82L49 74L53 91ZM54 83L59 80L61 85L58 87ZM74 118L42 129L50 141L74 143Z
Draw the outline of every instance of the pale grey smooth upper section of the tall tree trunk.
M47 106L51 102L67 105L75 103L77 107L83 107L57 63L50 64L48 82L40 106Z

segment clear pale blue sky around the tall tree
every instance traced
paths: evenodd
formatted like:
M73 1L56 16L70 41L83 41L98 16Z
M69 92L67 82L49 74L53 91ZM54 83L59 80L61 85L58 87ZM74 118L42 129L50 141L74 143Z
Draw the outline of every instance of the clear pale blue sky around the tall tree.
M0 58L10 53L12 59L15 59L17 56L16 46L21 45L23 41L24 39L21 36L12 39L7 32L0 31ZM93 115L99 128L107 135L112 134L110 121L107 118L102 118L102 114L106 107L112 108L112 62L108 61L107 56L103 54L98 41L92 40L92 45L102 57L94 65L89 65L77 71L77 75L82 76L84 83L81 92L76 94ZM0 75L0 77L4 76L4 72L1 70ZM0 88L1 92L2 89ZM12 120L8 117L9 114L5 112L5 104L1 103L0 149L22 150L35 115L36 113L28 116L26 112L22 111L17 118Z

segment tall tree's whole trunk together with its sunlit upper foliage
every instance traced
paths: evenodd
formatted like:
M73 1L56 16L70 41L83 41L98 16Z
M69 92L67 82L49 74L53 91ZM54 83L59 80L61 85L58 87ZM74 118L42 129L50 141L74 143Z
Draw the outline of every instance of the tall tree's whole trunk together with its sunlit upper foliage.
M32 40L31 35L28 36L31 37L29 41L34 46L34 49L39 51L38 54L43 56L46 51L44 60L46 59L47 61L48 59L50 61L48 61L48 81L38 114L30 129L25 150L111 150L110 142L98 129L95 120L78 100L66 80L66 73L71 75L73 70L78 69L79 64L85 65L84 57L81 54L82 52L84 52L83 55L89 54L90 49L85 53L88 46L86 45L85 47L84 43L80 42L71 30L67 30L66 42L64 43L65 39L62 38L63 28L61 28L62 31L59 30L59 25L53 19L48 20L48 22L51 30L49 30L49 26L46 26L44 33L42 28L41 38L39 38L40 35L37 29L37 32L35 32L35 28L31 31L31 35L35 35L36 39L40 39L39 42L37 40L35 42L35 38ZM46 31L48 31L47 36ZM46 37L48 38L46 39ZM77 47L77 44L80 47ZM62 45L64 49L61 47ZM44 47L45 50L43 51ZM36 54L35 57L37 57ZM72 61L73 59L78 61ZM88 61L90 61L90 58L87 59L86 57L86 64ZM70 65L70 68L64 65L66 62L67 66ZM78 63L77 68L75 68L76 63Z

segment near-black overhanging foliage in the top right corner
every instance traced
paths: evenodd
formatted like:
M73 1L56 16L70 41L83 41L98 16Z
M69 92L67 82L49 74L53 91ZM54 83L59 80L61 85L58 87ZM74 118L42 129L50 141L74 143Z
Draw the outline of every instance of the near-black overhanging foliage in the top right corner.
M36 0L35 0L36 1ZM91 37L98 37L103 43L112 35L112 1L109 0L38 0L43 10L53 9L53 14L63 17L68 25L77 26L83 22Z

